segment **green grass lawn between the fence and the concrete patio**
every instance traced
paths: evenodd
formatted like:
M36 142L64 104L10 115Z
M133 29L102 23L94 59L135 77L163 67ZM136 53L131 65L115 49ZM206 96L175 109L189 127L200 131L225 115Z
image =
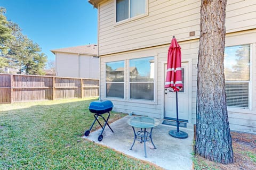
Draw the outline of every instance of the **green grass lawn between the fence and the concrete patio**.
M81 138L94 100L0 105L0 169L156 169Z

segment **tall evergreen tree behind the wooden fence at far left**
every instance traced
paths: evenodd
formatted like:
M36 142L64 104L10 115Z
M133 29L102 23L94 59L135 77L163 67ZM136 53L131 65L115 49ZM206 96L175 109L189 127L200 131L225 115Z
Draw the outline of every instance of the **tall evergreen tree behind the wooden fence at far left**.
M3 13L2 18L6 21ZM14 67L19 74L44 75L47 56L41 53L39 45L23 35L18 24L11 21L3 23L9 30L10 36L2 43L4 47L0 61L0 64L4 63L2 67Z

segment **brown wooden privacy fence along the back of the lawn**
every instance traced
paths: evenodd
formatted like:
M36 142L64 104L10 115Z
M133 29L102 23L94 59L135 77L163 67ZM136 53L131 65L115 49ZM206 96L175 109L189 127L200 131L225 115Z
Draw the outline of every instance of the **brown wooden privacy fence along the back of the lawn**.
M99 96L99 79L0 74L0 104Z

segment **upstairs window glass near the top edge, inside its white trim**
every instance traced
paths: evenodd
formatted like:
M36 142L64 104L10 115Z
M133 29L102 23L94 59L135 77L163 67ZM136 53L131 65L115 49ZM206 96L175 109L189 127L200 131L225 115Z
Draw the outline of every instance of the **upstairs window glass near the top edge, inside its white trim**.
M146 13L147 0L116 0L116 22Z

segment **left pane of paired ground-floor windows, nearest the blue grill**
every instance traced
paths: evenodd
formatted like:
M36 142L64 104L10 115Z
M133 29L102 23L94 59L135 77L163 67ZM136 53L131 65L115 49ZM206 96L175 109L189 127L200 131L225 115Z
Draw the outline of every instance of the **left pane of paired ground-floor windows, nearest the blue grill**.
M124 98L124 61L106 63L106 97Z

